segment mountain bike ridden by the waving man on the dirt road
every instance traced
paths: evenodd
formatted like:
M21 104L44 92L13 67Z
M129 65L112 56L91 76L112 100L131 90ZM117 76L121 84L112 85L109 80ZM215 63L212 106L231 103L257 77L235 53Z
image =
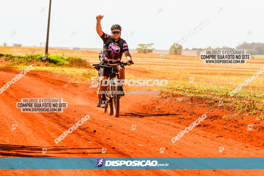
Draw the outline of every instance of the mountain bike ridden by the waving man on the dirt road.
M129 61L128 61L129 62ZM104 112L113 115L115 117L119 117L119 99L120 96L120 88L119 88L119 74L116 72L116 66L121 65L125 66L128 65L128 62L120 62L120 63L100 63L100 64L93 64L96 70L99 70L100 67L110 67L109 77L108 77L108 84L107 85L107 94L105 95L107 106L104 108ZM134 64L134 63L132 63ZM99 71L98 71L98 82L99 82Z

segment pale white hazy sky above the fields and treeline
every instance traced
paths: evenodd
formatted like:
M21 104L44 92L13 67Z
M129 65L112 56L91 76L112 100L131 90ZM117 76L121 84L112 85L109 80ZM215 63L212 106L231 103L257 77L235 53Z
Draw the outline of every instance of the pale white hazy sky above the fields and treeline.
M102 48L95 29L99 14L104 15L101 25L105 33L110 34L113 24L122 26L121 37L131 49L154 43L155 49L168 50L205 19L210 22L182 43L184 49L264 43L263 5L259 0L52 0L49 46ZM48 11L49 0L1 0L0 45L40 46L46 42ZM12 31L16 31L13 36Z

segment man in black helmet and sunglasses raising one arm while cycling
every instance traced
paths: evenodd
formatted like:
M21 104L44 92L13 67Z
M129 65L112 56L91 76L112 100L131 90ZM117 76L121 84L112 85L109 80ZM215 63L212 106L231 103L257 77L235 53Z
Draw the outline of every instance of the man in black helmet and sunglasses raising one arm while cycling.
M128 65L130 66L133 61L131 55L128 51L128 44L125 40L120 38L121 36L121 26L119 24L114 24L111 27L111 36L106 34L102 31L101 28L101 19L103 19L104 15L96 16L96 31L101 39L104 41L103 46L103 55L105 63L112 61L112 63L119 63L123 53L125 54L126 58L128 59ZM116 72L119 73L119 79L125 79L125 67L118 65L116 67ZM101 67L99 70L100 82L99 82L99 91L107 91L107 86L102 86L103 79L107 79L109 76L110 68L109 67ZM122 88L123 83L120 83L120 91L121 96L124 96L124 90ZM104 108L106 106L106 97L105 94L98 94L98 103L96 104L97 107Z

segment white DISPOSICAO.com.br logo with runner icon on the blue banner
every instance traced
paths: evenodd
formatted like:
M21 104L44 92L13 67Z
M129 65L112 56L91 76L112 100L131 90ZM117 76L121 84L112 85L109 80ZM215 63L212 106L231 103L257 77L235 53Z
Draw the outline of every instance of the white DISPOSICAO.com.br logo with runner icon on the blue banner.
M97 158L97 165L95 167L102 167L104 165L104 158ZM158 161L153 160L106 160L104 166L169 166L169 164L158 164Z

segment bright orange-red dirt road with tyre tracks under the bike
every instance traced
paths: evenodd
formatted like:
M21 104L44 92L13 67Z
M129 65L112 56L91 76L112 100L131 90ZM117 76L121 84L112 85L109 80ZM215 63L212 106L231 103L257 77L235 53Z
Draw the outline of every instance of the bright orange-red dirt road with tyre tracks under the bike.
M126 69L136 74L137 71ZM0 69L0 86L18 70ZM223 119L230 114L211 109L202 100L174 97L153 112L165 98L158 95L126 95L120 117L103 113L96 88L74 83L60 74L30 71L0 94L1 157L264 157L264 123L254 116ZM141 88L141 90L144 90ZM62 113L22 113L21 98L63 98ZM216 112L212 112L216 111ZM86 114L90 119L55 144L54 139ZM175 144L171 139L203 114L207 118ZM256 123L256 124L255 124ZM17 124L12 130L12 124ZM253 124L252 130L247 125ZM132 125L137 125L131 130ZM223 152L218 152L224 147ZM41 154L47 148L46 154ZM102 149L107 148L105 154ZM164 153L159 153L165 148ZM74 164L74 163L73 163ZM261 175L262 170L0 170L0 175Z

